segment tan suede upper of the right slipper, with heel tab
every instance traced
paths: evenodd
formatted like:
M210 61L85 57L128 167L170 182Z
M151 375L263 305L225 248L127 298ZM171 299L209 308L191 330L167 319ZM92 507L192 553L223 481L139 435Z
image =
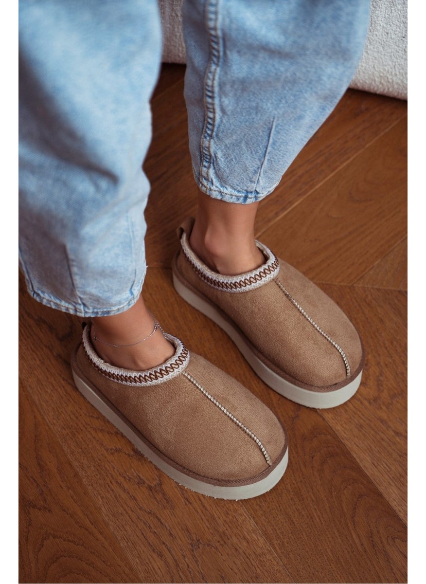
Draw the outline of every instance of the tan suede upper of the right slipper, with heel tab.
M178 233L185 232L188 241L191 228L192 222L186 221ZM343 383L362 359L357 331L319 287L288 263L279 262L273 279L238 294L218 290L201 279L182 251L176 269L186 285L231 318L260 356L289 377L319 390Z

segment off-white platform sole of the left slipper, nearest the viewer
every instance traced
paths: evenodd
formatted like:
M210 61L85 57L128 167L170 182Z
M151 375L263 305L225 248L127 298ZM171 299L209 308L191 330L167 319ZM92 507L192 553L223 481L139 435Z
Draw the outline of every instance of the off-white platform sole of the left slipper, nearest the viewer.
M73 370L72 375L74 377L74 383L77 389L82 393L82 395L88 399L90 404L95 406L95 408L102 413L114 426L116 426L117 430L120 430L122 434L135 447L146 457L150 460L153 464L156 465L161 471L165 472L173 481L178 482L181 486L184 486L191 491L195 491L197 493L201 493L202 495L207 495L210 497L215 497L217 499L232 499L232 500L239 500L239 499L250 499L252 497L257 497L259 495L263 495L267 491L273 488L280 481L282 475L285 472L288 464L288 450L285 453L284 457L280 461L280 463L274 468L267 477L261 479L258 482L254 482L250 485L241 485L241 486L219 486L219 485L211 485L207 482L202 482L198 479L193 477L188 477L188 475L180 472L176 468L172 467L170 464L167 464L163 458L160 458L158 454L156 454L153 450L149 448L149 446L141 440L141 438L136 434L130 426L128 426L124 420L117 415L116 412L113 411L106 404L100 397L97 395L92 388L88 384L85 383Z

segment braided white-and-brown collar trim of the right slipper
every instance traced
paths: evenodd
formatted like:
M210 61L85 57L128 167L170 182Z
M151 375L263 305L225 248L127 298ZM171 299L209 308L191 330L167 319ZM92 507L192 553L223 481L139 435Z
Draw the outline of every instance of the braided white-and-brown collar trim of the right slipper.
M195 272L197 272L198 276L200 276L201 280L205 281L212 288L217 288L217 290L222 290L223 292L248 292L249 290L255 290L273 280L278 272L280 272L278 258L275 257L266 245L261 244L257 240L256 245L266 257L266 263L252 272L246 272L238 276L222 276L222 274L218 274L209 269L190 248L185 232L182 234L180 244L184 256Z

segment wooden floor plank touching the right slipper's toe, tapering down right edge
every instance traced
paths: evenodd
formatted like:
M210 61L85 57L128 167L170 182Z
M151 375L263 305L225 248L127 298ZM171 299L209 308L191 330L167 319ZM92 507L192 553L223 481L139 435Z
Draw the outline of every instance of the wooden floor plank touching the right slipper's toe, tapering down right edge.
M365 367L356 397L320 413L407 522L407 294L322 288L362 331Z

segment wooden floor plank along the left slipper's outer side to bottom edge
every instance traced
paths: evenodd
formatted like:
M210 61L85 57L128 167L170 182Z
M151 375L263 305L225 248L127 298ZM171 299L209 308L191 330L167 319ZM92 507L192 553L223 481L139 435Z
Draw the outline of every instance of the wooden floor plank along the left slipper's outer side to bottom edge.
M150 302L158 300L169 312L175 296L164 296L162 280L160 284L160 289L148 286L147 294ZM292 582L240 502L181 488L79 394L69 369L69 354L79 336L76 319L38 304L23 290L20 299L21 369L27 390L139 581Z

